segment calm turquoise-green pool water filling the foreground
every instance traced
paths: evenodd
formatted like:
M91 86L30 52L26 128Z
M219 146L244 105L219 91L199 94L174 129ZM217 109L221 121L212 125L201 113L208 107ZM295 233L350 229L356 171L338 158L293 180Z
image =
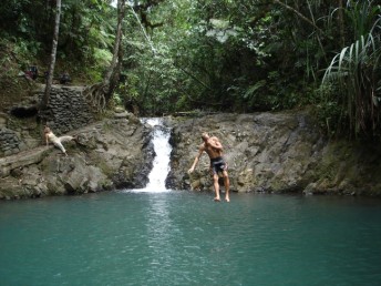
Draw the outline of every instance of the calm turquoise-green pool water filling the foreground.
M0 202L1 285L381 285L381 202L115 192Z

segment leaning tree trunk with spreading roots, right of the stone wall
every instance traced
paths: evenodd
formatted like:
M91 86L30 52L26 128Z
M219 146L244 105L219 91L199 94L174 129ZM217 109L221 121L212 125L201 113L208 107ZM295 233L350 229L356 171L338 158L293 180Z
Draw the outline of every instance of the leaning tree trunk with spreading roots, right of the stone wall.
M117 78L120 73L121 64L121 49L122 49L122 38L123 38L123 19L125 13L125 0L117 0L117 27L116 27L116 37L113 50L113 59L111 61L110 68L106 75L103 79L103 91L106 103L111 100L113 92L117 84Z

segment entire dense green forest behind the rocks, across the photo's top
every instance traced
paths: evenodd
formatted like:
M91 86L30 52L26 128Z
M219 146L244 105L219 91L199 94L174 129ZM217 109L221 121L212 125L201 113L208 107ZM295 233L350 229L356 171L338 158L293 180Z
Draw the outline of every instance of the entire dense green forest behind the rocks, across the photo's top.
M62 0L54 76L101 82L120 9ZM107 105L140 115L311 109L329 135L379 139L381 6L371 0L119 0L117 85ZM56 2L2 0L3 106L48 71ZM38 78L37 82L44 82Z

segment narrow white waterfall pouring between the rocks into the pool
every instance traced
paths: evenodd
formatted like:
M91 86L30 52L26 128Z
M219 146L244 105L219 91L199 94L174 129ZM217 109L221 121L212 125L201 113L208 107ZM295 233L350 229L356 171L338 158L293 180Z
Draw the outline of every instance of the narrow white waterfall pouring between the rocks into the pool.
M153 144L156 153L153 168L148 175L150 183L142 192L168 192L165 187L165 178L169 172L169 144L171 130L163 125L159 118L145 119L143 122L153 126Z

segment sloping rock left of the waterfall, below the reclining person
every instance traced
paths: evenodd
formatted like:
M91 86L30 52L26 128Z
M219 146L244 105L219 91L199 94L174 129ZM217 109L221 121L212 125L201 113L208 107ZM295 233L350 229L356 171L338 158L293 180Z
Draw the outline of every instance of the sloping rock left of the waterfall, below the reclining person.
M64 143L68 157L54 146L2 157L0 198L143 187L155 155L150 132L133 115L119 114L71 133L78 142Z

